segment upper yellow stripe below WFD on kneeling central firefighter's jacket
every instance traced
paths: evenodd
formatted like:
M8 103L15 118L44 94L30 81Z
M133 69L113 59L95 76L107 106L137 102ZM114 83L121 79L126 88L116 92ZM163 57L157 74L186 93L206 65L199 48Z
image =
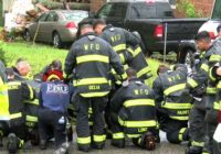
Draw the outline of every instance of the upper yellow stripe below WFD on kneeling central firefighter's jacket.
M134 106L155 106L154 99L133 99L124 102L126 108Z

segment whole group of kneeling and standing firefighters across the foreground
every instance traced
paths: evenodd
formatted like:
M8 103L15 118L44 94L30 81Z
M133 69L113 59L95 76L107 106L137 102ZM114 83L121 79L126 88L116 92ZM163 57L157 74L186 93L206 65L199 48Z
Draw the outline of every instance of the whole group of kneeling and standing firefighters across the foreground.
M221 25L218 38L196 35L199 51L193 67L160 65L152 85L151 70L138 33L96 20L82 23L78 38L62 63L53 61L34 76L25 59L12 68L0 63L0 146L8 136L9 153L54 138L54 154L69 153L75 119L80 151L102 150L125 140L155 150L159 130L170 143L187 141L186 154L212 154L212 135L221 110ZM197 55L197 54L196 54Z

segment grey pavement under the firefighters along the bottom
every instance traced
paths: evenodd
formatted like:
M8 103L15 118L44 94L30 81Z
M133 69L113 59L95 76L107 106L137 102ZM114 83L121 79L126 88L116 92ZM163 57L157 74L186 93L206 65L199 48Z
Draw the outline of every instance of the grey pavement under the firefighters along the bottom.
M157 148L155 151L146 151L140 150L131 144L131 142L127 141L125 148L116 148L110 145L109 140L106 142L106 146L104 150L92 150L90 151L90 154L185 154L186 144L182 145L176 145L170 144L165 139L165 133L160 134L161 143L157 145ZM53 147L50 146L46 151L41 151L38 147L34 147L34 150L29 151L22 151L20 150L19 154L53 154ZM7 154L6 147L0 148L0 154ZM71 146L70 154L85 154L76 148L75 142Z

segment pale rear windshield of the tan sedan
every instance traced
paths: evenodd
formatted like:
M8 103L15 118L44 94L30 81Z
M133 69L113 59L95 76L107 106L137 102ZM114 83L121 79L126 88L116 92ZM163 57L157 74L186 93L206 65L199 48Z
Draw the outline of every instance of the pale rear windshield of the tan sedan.
M73 12L63 12L63 15L66 20L73 20L75 22L81 22L84 18L88 16L86 11L73 11Z

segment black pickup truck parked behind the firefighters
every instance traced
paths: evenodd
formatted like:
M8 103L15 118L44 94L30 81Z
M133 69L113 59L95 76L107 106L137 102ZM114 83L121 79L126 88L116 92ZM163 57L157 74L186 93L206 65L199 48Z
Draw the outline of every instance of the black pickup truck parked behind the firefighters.
M109 0L97 13L91 13L90 19L104 19L115 26L137 31L148 55L164 53L165 43L166 53L177 53L180 41L192 38L207 21L176 19L167 0Z

